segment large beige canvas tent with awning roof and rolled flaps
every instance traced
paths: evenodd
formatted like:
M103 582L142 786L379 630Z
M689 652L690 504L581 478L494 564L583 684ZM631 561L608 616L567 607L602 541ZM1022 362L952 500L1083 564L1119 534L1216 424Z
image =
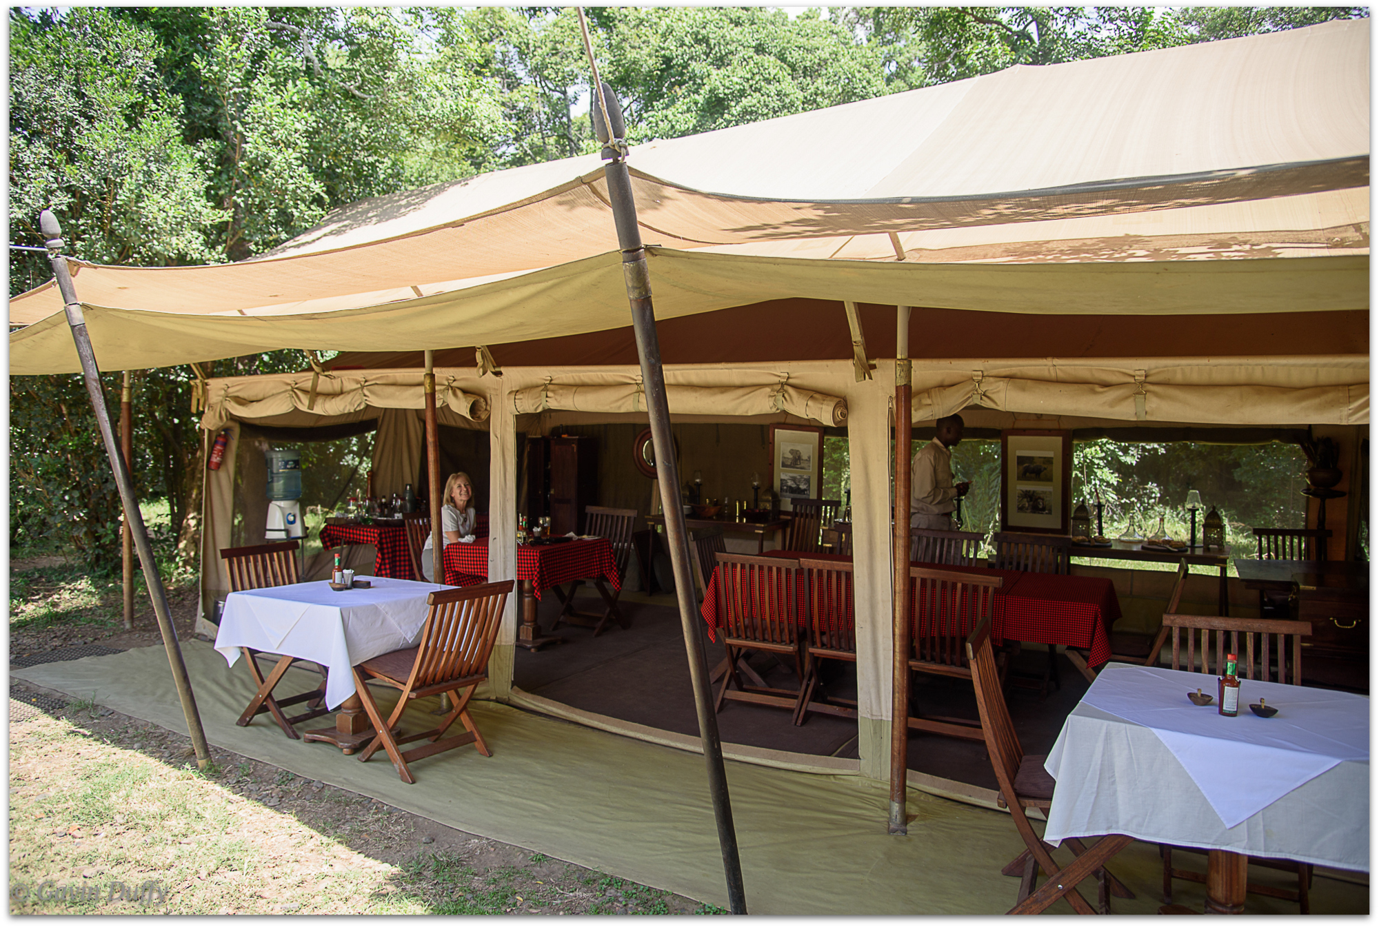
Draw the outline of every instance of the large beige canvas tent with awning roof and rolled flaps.
M892 371L856 371L894 356L894 306L916 308L916 421L1367 425L1368 57L1368 23L1333 22L633 149L680 401L739 421L845 408L862 771L884 778L889 716ZM638 415L615 248L585 156L368 200L241 263L79 262L74 283L105 370L276 348L396 361L316 378L314 396L310 372L211 382L207 425L382 422L421 404L416 352L461 349L439 360L443 406L488 411L491 531L510 538L519 417ZM46 287L11 301L12 374L77 368L58 303ZM481 345L501 379L469 366ZM673 414L698 408L672 393ZM512 577L512 546L490 550L490 577ZM502 633L501 692L514 615Z

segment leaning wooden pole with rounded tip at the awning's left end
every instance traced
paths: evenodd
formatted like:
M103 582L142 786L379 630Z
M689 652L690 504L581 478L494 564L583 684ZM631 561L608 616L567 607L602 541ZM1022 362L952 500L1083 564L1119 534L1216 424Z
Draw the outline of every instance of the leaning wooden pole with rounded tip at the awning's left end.
M120 502L124 505L124 523L130 526L130 531L134 535L134 546L139 552L139 563L143 566L143 581L149 586L149 597L153 600L153 614L157 615L159 630L163 635L163 647L167 650L168 664L172 668L172 681L177 684L177 692L182 701L186 730L192 735L192 748L196 752L196 766L200 770L205 770L211 763L211 753L205 745L205 731L201 730L201 716L196 710L196 697L192 694L192 680L186 675L182 648L177 643L177 629L172 626L172 614L168 611L163 577L159 575L159 564L153 559L149 532L143 527L139 502L134 495L134 481L130 479L130 468L125 466L124 458L120 455L120 448L114 443L114 429L110 428L110 414L105 408L105 392L101 389L101 370L95 364L95 350L91 348L91 335L87 332L85 315L81 312L81 303L77 301L76 287L72 286L68 259L62 255L62 226L58 223L57 215L50 210L44 210L39 217L39 228L43 229L44 244L48 248L48 262L52 265L52 276L57 279L58 291L62 294L68 327L72 328L72 341L76 342L77 359L81 361L81 375L85 379L87 396L91 400L91 410L95 412L95 421L101 429L101 440L105 443L105 455L109 458L110 469L114 472L114 484L120 490Z

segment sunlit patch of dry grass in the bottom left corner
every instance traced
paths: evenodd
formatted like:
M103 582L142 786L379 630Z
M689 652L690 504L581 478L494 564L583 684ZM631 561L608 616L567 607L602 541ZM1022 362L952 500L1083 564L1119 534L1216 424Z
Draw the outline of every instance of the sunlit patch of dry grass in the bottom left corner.
M12 915L427 913L394 898L394 866L228 792L225 767L117 746L146 739L47 716L11 726ZM294 855L305 865L284 866Z

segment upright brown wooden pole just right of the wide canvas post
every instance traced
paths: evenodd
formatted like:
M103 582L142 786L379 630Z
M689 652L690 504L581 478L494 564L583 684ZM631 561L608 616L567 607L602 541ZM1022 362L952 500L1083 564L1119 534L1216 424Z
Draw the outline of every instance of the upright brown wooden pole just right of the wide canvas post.
M895 308L895 513L891 553L891 819L906 833L905 782L910 735L910 308Z

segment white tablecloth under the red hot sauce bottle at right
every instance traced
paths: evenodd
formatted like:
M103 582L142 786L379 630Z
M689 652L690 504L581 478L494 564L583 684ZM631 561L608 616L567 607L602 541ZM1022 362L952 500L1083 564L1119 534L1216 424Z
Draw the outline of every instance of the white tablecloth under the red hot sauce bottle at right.
M1187 701L1198 687L1215 694L1215 677L1107 666L1045 761L1045 840L1124 833L1368 872L1369 699L1242 680L1241 715L1222 717ZM1249 712L1260 694L1277 716ZM1218 806L1254 810L1227 826Z

